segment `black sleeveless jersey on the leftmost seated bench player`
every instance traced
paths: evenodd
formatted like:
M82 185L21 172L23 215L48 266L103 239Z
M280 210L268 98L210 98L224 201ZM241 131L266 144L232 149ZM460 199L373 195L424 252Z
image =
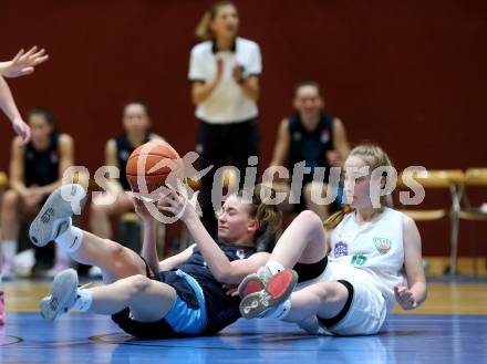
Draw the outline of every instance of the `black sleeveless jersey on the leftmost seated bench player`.
M56 181L60 178L59 162L58 133L51 135L49 147L44 150L37 150L32 142L29 142L23 163L25 186L46 186Z

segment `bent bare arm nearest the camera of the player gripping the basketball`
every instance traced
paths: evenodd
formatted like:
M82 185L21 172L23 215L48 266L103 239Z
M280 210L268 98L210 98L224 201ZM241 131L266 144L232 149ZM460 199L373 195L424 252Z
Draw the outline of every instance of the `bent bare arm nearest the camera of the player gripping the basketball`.
M240 283L247 274L256 272L260 267L266 264L269 254L265 252L253 254L249 259L230 262L217 242L205 229L194 205L190 204L183 194L174 189L168 194L167 198L164 199L164 204L166 205L159 205L158 208L162 211L168 211L175 215L183 210L180 219L195 239L196 245L217 281L221 283ZM195 199L194 196L193 200Z

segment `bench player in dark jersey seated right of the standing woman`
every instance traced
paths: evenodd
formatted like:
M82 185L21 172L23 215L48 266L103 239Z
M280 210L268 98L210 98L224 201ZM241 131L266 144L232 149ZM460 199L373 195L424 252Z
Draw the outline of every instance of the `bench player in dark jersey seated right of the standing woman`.
M301 194L298 205L290 205L288 200L282 204L284 211L310 209L324 220L329 215L329 206L313 202L311 195L327 195L330 167L340 167L349 155L345 128L338 117L323 111L324 101L315 82L300 83L294 91L293 104L296 113L284 118L279 126L271 170L276 170L272 167L287 165L291 178L294 164L304 162L311 171L303 175L302 188L299 190L291 191L290 184L284 180L274 181L272 187L277 191L286 191L288 197ZM317 167L327 168L318 183L313 181Z

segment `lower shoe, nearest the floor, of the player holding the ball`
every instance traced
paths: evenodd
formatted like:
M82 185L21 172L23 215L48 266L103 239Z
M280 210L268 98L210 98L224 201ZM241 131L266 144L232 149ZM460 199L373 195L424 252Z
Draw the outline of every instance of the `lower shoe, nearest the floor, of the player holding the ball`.
M66 313L76 301L77 273L68 269L59 273L52 283L51 295L43 298L40 303L42 318L53 321L58 315Z

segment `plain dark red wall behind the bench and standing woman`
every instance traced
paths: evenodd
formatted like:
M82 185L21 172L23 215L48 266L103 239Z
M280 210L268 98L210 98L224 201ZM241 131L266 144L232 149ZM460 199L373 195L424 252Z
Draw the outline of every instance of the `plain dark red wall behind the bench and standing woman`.
M11 80L19 106L52 108L60 128L75 137L76 162L92 173L103 163L105 141L120 129L123 103L132 98L149 104L155 132L182 153L193 149L188 53L208 3L3 0L0 59L31 44L52 56L34 75ZM263 55L263 164L279 121L291 111L293 85L313 79L324 86L327 106L343 119L350 139L377 142L400 168L487 165L484 1L246 0L238 6L241 34L256 40ZM3 170L11 136L3 125ZM421 228L426 253L448 252L446 225ZM478 239L486 240L486 232L480 229Z

